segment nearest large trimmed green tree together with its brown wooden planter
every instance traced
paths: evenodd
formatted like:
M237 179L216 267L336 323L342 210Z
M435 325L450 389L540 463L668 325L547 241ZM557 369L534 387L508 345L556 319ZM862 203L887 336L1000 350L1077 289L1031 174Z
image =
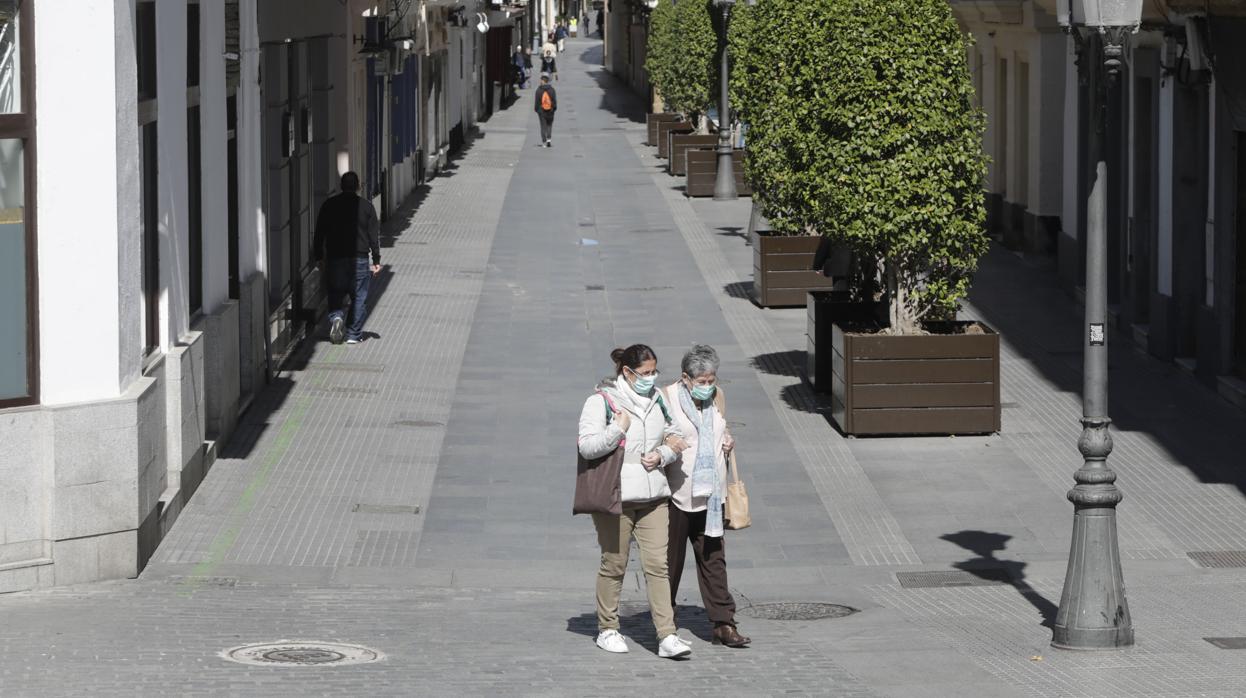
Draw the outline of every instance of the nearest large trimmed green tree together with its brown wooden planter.
M836 424L997 431L999 338L957 319L989 243L984 117L948 4L770 0L751 25L738 86L765 213L872 263L887 304L886 323L832 324Z

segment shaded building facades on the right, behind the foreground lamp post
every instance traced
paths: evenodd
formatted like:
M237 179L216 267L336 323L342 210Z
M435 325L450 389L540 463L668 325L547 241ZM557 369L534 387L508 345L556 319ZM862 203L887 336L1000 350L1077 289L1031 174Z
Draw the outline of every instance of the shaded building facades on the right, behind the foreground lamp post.
M1096 59L1055 0L951 0L973 37L988 126L989 223L1085 278ZM1143 350L1246 405L1246 7L1146 4L1106 107L1109 308Z

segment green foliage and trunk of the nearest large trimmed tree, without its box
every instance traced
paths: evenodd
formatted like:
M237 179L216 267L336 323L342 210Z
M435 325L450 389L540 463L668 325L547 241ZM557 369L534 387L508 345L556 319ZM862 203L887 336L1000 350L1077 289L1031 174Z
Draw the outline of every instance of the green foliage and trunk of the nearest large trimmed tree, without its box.
M987 160L947 0L766 0L748 24L734 87L771 224L875 259L888 332L953 319L988 249Z

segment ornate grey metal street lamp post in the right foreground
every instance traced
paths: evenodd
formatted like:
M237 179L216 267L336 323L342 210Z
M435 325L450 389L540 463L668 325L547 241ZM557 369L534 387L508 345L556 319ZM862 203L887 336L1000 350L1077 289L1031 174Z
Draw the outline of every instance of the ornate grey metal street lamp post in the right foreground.
M1108 467L1108 163L1106 96L1115 90L1130 34L1141 24L1143 0L1059 0L1060 24L1074 32L1079 64L1093 72L1090 153L1095 171L1087 199L1087 300L1082 396L1082 439L1085 459L1069 490L1073 502L1073 543L1064 577L1060 610L1052 644L1065 649L1115 649L1134 644L1134 624L1125 601L1116 543L1116 505L1121 494ZM1096 51L1096 49L1100 49ZM1101 65L1098 59L1101 57Z

